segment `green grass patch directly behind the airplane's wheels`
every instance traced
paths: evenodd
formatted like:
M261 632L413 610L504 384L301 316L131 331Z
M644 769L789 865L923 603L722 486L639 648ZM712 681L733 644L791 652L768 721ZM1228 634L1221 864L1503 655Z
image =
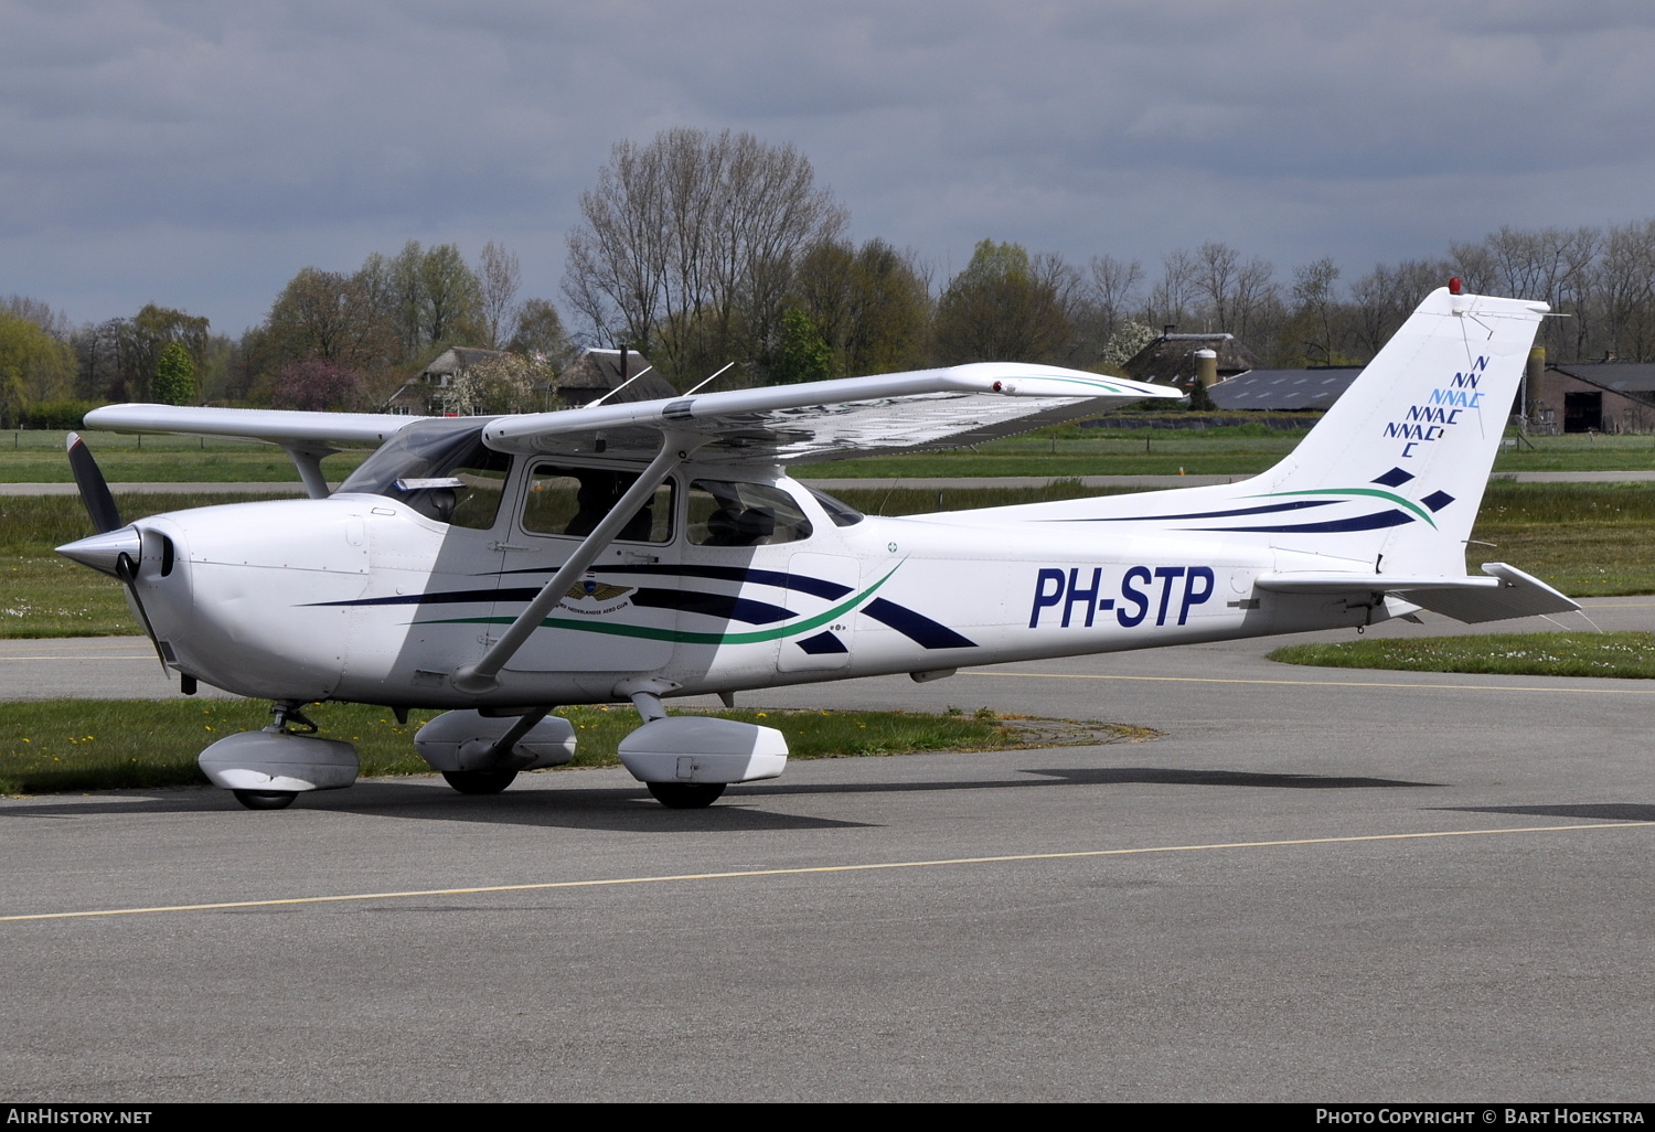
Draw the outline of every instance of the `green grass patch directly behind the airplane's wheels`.
M386 708L357 703L324 703L308 713L324 736L356 746L362 776L430 773L414 753L414 731L435 712L414 712L407 725L399 725ZM619 765L616 745L639 725L631 707L564 708L559 715L576 728L574 766ZM1001 718L988 710L975 715L751 710L718 715L780 728L793 758L1114 743L1154 735L1107 723L1067 725L1054 733L1051 722ZM195 756L227 735L268 722L268 705L252 700L5 703L0 705L0 793L205 784Z

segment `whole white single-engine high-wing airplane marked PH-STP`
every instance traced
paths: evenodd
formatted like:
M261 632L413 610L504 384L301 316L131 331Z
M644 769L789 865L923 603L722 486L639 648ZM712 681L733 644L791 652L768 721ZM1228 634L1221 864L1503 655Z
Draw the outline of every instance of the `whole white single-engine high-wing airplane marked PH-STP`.
M321 700L450 708L415 735L462 793L569 761L548 715L631 700L627 770L667 806L773 778L780 731L662 700L809 680L1367 626L1415 609L1577 609L1465 548L1544 303L1427 298L1302 444L1216 487L872 518L788 468L975 444L1160 386L1026 364L743 389L510 417L109 405L94 429L278 444L308 500L122 525L78 437L98 535L162 662L275 702L202 770L248 808L349 786ZM377 447L338 492L319 462Z

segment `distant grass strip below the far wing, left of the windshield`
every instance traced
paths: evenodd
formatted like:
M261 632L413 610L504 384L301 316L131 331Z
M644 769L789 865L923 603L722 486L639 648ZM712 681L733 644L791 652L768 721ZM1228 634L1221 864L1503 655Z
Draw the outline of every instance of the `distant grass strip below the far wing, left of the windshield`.
M61 432L0 432L0 483L71 483ZM111 483L270 483L291 482L298 472L288 453L271 444L202 440L197 437L126 437L86 432L86 444ZM323 462L323 473L343 480L367 458L339 452Z

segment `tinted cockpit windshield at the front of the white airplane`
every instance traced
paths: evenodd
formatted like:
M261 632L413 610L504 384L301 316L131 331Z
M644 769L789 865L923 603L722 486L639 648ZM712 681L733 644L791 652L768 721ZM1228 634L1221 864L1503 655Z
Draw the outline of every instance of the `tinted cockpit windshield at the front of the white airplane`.
M500 511L511 457L483 445L478 420L419 420L367 457L339 493L384 495L427 518L487 530Z

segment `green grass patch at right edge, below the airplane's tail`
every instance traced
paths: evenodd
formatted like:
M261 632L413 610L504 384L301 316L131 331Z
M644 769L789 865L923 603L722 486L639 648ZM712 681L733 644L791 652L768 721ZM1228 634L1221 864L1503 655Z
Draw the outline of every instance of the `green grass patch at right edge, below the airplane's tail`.
M1324 669L1405 669L1494 675L1655 679L1655 634L1503 632L1468 637L1365 639L1276 649L1271 660Z

